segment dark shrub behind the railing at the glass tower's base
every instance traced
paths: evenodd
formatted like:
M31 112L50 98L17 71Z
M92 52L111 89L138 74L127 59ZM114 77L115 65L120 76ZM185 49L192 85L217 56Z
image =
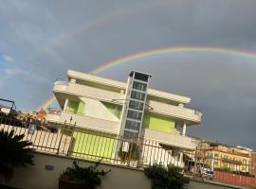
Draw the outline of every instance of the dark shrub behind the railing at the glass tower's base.
M119 149L119 158L120 161L130 162L130 161L137 161L139 158L139 147L136 143L130 143L128 151L122 151L122 147Z

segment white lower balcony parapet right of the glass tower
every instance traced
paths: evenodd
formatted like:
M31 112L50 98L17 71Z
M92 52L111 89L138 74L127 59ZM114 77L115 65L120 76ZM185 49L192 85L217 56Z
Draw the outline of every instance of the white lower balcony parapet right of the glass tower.
M197 146L197 142L194 141L191 137L182 136L175 133L160 132L153 129L145 129L144 138L154 140L165 145L176 146L184 149L195 150Z

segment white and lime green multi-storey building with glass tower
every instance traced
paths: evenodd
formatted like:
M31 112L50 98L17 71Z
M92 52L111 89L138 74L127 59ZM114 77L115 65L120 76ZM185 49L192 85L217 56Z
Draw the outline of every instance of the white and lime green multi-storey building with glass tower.
M87 133L98 130L112 137L152 139L161 150L172 146L177 152L173 154L196 148L196 142L186 136L186 129L201 122L201 112L185 107L191 101L189 97L148 88L150 75L133 71L126 83L71 70L67 76L67 82L54 83L53 92L62 112L47 113L48 123L76 123L76 128ZM85 136L75 131L73 137L73 150L81 150L79 143L86 141ZM115 146L112 141L107 143Z

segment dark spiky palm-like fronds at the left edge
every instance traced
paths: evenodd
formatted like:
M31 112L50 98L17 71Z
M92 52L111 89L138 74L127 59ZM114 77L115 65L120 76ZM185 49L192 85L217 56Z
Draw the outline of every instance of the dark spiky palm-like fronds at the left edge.
M28 141L23 141L25 135L15 135L14 130L10 132L0 130L0 175L5 180L9 180L13 173L13 166L33 163L33 151L27 146L32 145Z

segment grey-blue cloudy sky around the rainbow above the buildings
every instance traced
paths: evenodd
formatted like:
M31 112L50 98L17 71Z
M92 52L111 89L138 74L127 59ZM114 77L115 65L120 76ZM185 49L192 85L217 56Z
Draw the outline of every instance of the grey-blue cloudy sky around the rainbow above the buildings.
M255 0L0 0L0 98L36 110L68 69L90 72L147 50L212 46L255 53L177 52L99 76L152 74L151 88L190 96L203 122L188 134L256 149Z

